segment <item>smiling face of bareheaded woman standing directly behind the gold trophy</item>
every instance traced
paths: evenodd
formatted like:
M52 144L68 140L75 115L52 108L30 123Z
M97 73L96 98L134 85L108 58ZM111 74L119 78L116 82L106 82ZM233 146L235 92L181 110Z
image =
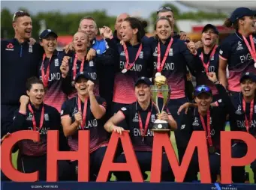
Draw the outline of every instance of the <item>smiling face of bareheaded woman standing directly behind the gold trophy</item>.
M167 40L172 32L170 22L167 19L159 19L156 23L155 31L160 40Z

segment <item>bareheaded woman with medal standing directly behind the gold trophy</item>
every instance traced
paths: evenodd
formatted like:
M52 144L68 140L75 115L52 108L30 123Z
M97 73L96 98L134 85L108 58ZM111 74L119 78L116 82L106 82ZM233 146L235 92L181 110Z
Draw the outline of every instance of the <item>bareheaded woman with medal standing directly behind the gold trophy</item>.
M193 42L185 43L183 40L171 37L170 19L165 16L158 18L155 23L155 32L156 37L151 44L154 66L152 79L157 76L165 76L167 85L171 88L172 93L167 108L178 124L175 137L179 160L181 161L187 144L183 143L182 133L179 132L183 113L178 116L177 111L180 105L187 102L187 97L185 96L186 67L188 66L194 75L195 70L200 70L196 66L203 66L200 64L200 58L197 56L197 50ZM161 105L159 106L161 107Z

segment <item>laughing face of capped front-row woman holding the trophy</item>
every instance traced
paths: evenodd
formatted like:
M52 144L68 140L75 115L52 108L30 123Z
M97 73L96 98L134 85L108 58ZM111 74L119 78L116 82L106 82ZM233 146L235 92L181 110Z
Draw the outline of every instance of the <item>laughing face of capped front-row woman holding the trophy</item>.
M138 102L148 102L151 99L151 92L149 85L140 83L135 87L135 96Z

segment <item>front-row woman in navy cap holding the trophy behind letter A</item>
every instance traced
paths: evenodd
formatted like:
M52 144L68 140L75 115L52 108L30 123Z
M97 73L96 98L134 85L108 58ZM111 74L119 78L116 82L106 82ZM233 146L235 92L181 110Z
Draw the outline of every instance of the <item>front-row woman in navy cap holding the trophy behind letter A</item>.
M137 101L122 107L104 125L107 132L118 132L122 134L122 131L125 129L118 126L118 124L122 122L122 120L126 120L128 129L130 130L131 142L144 177L146 175L145 171L150 171L151 169L152 143L154 137L152 129L156 128L155 125L161 125L162 120L167 123L168 127L166 130L177 128L177 123L167 108L164 108L164 111L159 113L158 106L155 106L157 102L154 102L154 98L151 98L151 96L155 96L154 92L151 92L151 89L154 89L154 86L152 86L152 82L148 78L140 77L137 79L134 88ZM167 92L167 94L170 93ZM157 120L159 120L160 123L158 123ZM162 181L173 181L174 176L165 153L163 153L162 158ZM116 159L116 162L125 162L125 155L121 154ZM128 172L115 172L115 175L118 180L131 180Z

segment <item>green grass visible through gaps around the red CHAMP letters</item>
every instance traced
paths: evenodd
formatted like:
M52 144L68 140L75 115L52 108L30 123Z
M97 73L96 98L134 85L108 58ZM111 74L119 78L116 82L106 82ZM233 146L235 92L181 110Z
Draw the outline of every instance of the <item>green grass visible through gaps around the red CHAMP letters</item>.
M230 131L230 127L229 126L226 126L226 131ZM176 155L177 155L177 146L176 146L176 141L175 141L175 137L174 137L174 133L172 132L172 134L170 135L170 140L173 144L173 148L176 152ZM12 155L12 161L13 161L13 165L14 165L14 168L17 168L17 155L18 155L18 151L16 153L13 153ZM250 179L250 183L253 183L253 172L251 171L251 168L249 165L247 165L245 167L245 171L249 173L249 179ZM146 174L148 174L148 179L146 181L149 181L150 179L150 171L147 171ZM198 174L198 179L200 180L200 174ZM112 177L110 179L111 181L115 181L116 180L116 177L112 174Z

